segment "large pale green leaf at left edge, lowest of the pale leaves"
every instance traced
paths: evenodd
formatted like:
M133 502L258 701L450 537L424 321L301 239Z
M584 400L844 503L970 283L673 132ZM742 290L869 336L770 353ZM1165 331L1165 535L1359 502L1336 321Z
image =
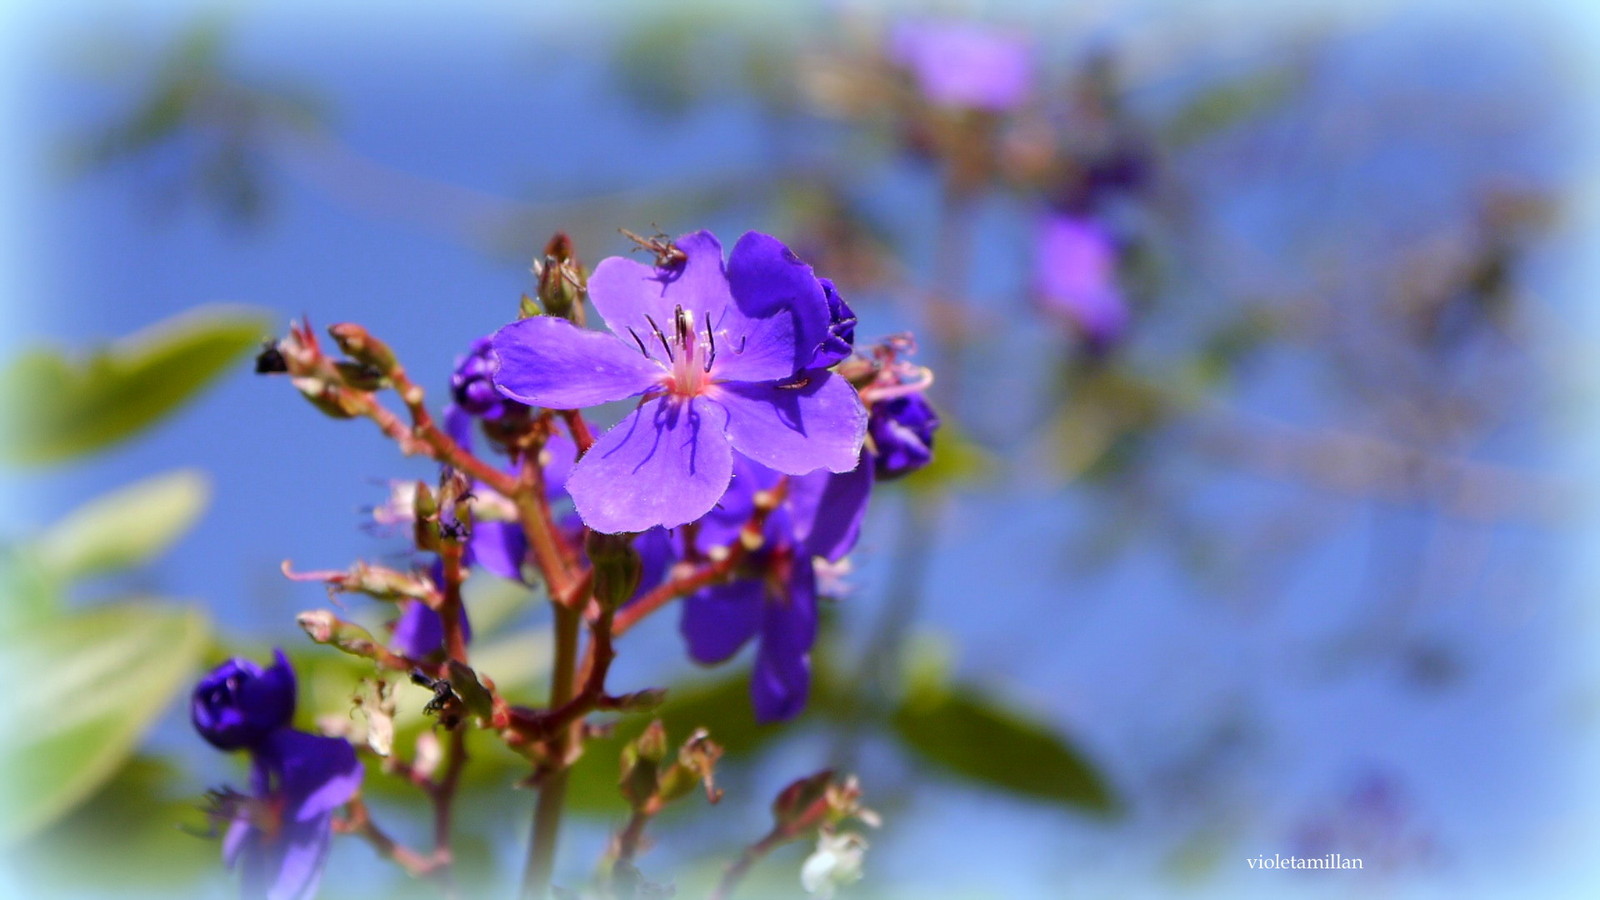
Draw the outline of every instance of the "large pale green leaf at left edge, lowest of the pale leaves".
M6 634L10 671L0 842L50 825L106 783L206 647L198 610L130 601Z

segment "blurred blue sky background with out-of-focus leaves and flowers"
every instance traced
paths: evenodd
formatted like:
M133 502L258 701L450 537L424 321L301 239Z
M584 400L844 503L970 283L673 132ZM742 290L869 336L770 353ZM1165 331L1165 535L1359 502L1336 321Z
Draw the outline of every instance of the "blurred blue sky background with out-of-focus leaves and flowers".
M219 658L283 645L301 721L349 719L360 669L280 564L403 557L371 508L432 466L251 376L261 340L360 322L437 408L546 240L594 264L618 227L781 237L858 340L917 335L946 423L874 498L800 719L749 721L747 657L696 669L670 612L622 645L616 684L730 749L646 876L702 895L837 765L885 820L848 897L1592 895L1592 11L174 2L0 34L18 895L232 894L186 833L243 778L179 701ZM542 609L491 581L475 661L533 697ZM475 754L462 854L504 895L533 798ZM558 881L622 822L614 765L582 762ZM747 894L800 895L805 854ZM1275 854L1365 868L1245 862ZM403 889L334 842L326 895Z

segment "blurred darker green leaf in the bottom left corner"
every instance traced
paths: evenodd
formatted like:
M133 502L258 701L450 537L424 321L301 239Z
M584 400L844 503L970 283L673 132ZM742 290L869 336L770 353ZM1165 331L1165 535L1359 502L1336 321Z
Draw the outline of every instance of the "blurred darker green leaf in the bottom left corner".
M37 895L187 895L221 866L221 847L179 826L205 828L200 799L171 762L134 756L70 815L18 844L8 862ZM42 890L48 887L48 890Z

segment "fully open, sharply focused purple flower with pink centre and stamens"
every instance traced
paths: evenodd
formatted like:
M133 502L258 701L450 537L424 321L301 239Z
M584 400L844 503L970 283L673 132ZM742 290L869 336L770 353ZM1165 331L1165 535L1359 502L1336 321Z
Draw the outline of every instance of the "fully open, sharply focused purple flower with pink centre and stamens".
M726 493L733 452L784 474L846 472L866 437L848 381L814 368L834 336L811 267L749 232L726 266L710 232L682 237L683 261L613 256L589 277L611 335L539 315L494 338L494 383L530 405L582 408L640 397L566 479L584 524L643 532L704 516Z

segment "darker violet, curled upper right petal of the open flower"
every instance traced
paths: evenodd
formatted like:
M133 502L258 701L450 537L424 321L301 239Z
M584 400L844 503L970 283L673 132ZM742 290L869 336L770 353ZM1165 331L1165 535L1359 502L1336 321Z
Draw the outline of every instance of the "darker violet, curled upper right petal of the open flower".
M715 378L779 381L811 364L832 320L811 266L776 237L752 231L728 256L728 285L734 306L715 322Z

